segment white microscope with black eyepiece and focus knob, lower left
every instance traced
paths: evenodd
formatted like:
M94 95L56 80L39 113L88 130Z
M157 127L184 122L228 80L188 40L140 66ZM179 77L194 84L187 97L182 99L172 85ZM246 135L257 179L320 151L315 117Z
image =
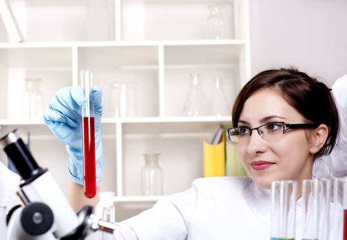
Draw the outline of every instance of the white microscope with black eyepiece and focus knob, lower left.
M3 136L0 145L21 176L21 205L6 217L8 240L80 240L97 230L113 233L116 225L100 220L93 207L74 213L52 174L38 166L16 130Z

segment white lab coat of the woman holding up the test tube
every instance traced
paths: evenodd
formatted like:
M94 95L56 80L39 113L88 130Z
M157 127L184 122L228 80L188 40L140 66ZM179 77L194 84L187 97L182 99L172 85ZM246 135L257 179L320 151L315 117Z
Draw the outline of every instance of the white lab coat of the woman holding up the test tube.
M346 93L347 75L333 85L340 118L338 145L316 160L316 178L347 176ZM115 239L270 239L270 204L269 190L259 189L250 178L201 178L188 191L162 197L153 208L123 221ZM298 216L300 205L299 200ZM296 239L301 239L298 225Z

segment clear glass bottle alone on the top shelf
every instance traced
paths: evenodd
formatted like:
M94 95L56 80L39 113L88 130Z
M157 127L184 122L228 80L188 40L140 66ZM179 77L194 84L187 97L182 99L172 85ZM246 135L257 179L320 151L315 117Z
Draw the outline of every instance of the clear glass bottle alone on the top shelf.
M206 37L220 40L225 38L225 21L223 19L223 4L208 5L210 16L207 19Z

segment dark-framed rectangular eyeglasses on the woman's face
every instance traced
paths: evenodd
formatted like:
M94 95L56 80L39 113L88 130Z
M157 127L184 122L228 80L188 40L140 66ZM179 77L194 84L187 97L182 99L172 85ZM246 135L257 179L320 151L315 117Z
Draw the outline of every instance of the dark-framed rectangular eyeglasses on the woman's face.
M249 139L251 139L251 133L253 132L253 130L257 130L259 136L261 136L262 139L273 142L278 141L281 136L285 134L289 129L317 128L317 126L319 125L320 123L290 124L281 121L276 123L267 123L259 126L258 128L230 128L227 130L227 134L230 141L233 141L234 143L246 143L249 141Z

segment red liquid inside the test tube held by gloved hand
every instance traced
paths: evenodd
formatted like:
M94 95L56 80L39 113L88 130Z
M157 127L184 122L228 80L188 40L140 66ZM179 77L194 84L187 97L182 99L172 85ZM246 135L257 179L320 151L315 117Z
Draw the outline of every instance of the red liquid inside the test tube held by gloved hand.
M90 121L88 121L88 119ZM93 198L96 195L96 142L94 117L83 117L82 134L83 186L85 188L85 196Z

